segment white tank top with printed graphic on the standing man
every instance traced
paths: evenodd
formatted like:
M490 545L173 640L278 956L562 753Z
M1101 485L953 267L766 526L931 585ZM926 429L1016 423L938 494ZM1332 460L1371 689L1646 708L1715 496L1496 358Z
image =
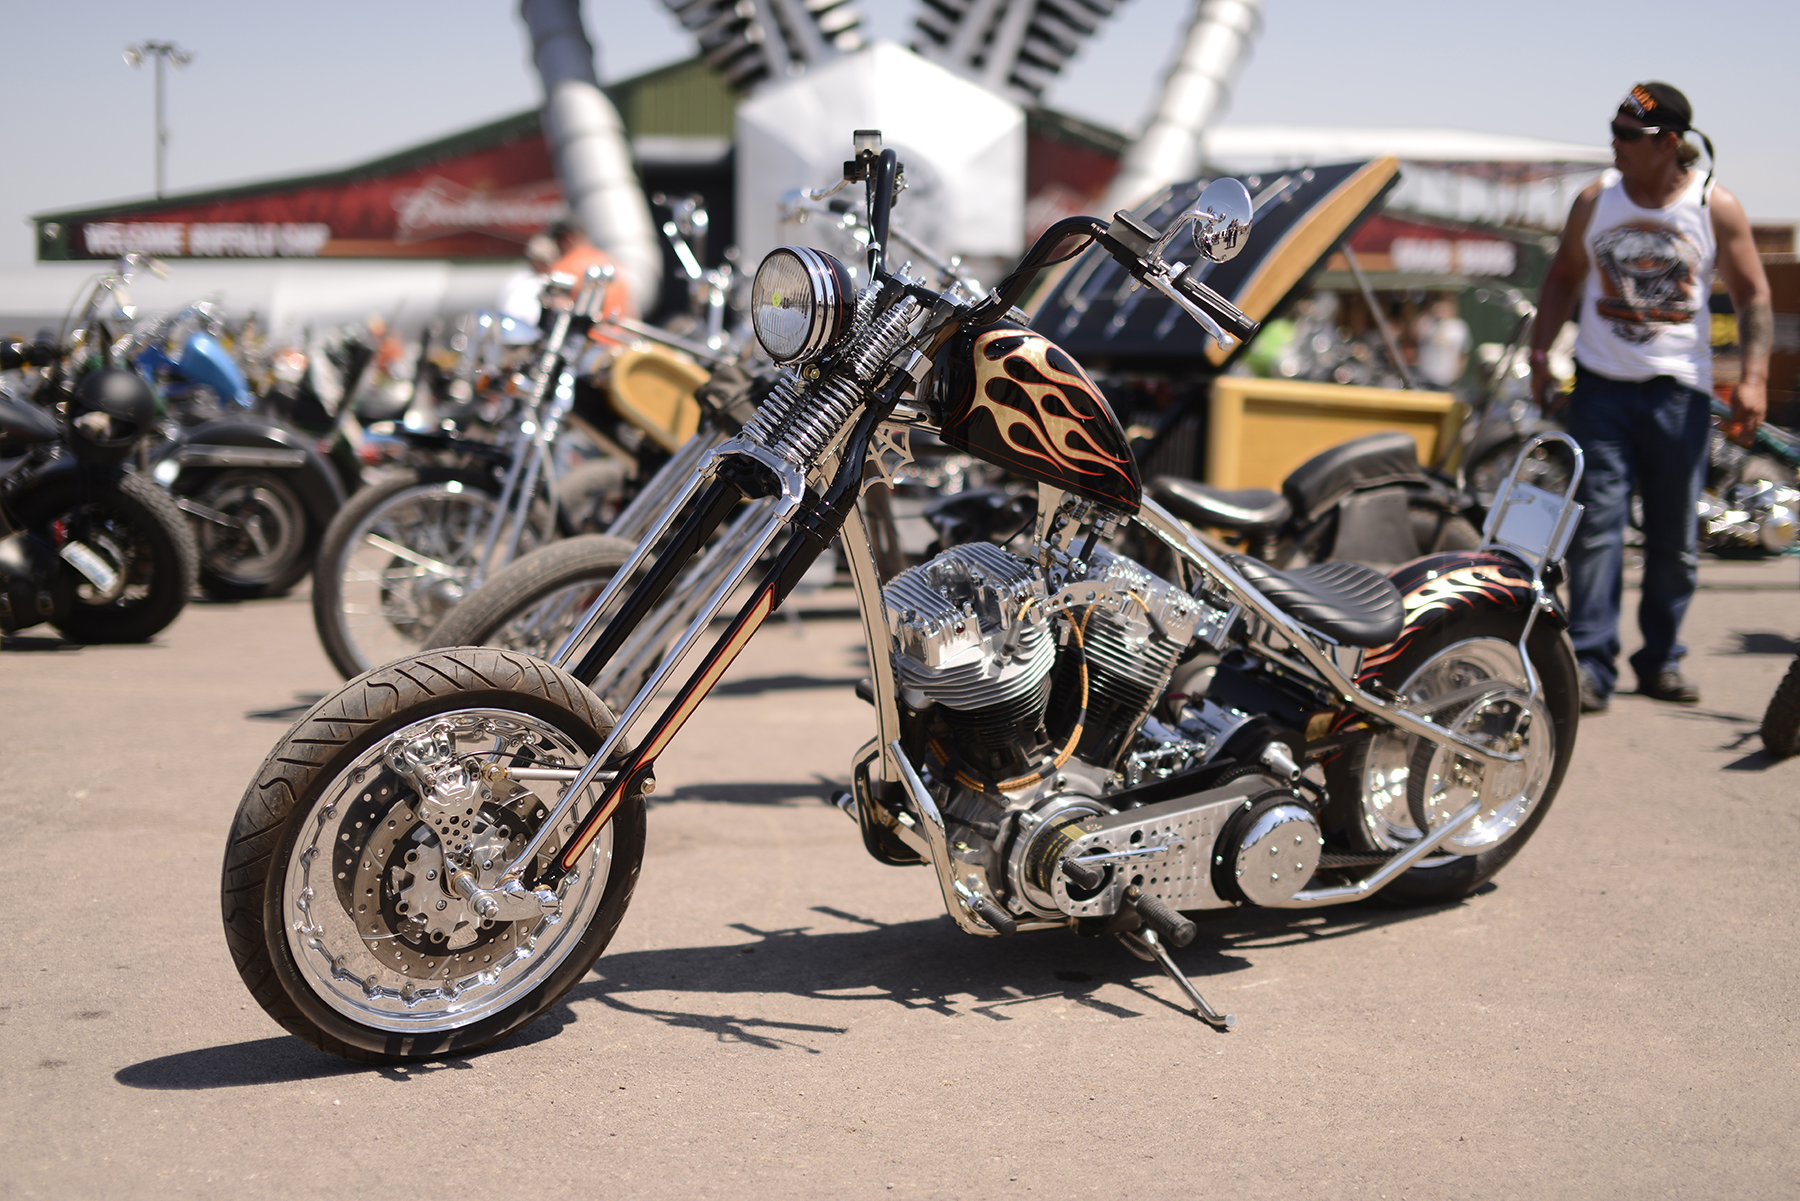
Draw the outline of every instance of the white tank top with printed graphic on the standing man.
M1575 362L1609 380L1674 376L1712 391L1712 270L1717 245L1699 171L1667 209L1642 209L1616 169L1600 176L1588 221L1588 284Z

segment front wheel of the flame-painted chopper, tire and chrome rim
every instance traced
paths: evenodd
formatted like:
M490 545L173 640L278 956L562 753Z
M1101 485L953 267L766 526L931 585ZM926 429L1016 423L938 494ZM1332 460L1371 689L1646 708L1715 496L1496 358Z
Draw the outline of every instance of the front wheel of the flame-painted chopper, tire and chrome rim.
M473 646L315 704L263 762L225 850L225 938L250 994L290 1034L365 1062L470 1052L551 1008L625 917L643 796L562 879L558 913L488 920L450 880L493 888L565 787L500 767L580 769L610 727L567 673ZM538 866L599 792L558 821Z

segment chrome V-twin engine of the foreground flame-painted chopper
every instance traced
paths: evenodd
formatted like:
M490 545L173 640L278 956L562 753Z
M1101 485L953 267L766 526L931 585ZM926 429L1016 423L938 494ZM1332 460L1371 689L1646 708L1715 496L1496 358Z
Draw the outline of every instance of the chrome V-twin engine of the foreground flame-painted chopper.
M1154 715L1183 652L1195 639L1222 643L1229 616L1105 547L1073 565L1046 580L1039 564L974 542L882 591L900 702L922 735L959 879L1017 917L1051 922L1107 920L1132 882L1184 908L1291 895L1312 873L1318 839L1285 789L1298 769L1262 751L1267 735L1249 736L1269 724L1251 717L1271 709L1267 699L1222 686L1219 699ZM1109 799L1206 763L1235 765L1240 751L1260 774L1213 792L1197 785L1192 798L1174 781L1141 810ZM1233 767L1233 780L1242 774ZM1253 794L1262 799L1246 807ZM1256 855L1294 837L1312 850L1265 871ZM1213 855L1226 843L1229 853ZM1130 868L1107 868L1084 891L1058 866L1076 853Z

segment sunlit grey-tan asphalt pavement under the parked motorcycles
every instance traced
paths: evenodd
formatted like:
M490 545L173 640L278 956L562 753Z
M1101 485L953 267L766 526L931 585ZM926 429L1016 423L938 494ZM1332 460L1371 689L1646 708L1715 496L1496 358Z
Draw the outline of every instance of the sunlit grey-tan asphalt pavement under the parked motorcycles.
M7 637L0 1197L1800 1196L1800 760L1755 735L1796 574L1705 564L1703 702L1584 720L1481 895L1202 922L1177 960L1229 1034L1111 940L970 938L862 852L821 803L873 733L824 592L662 756L596 971L403 1070L283 1034L220 927L238 799L338 686L304 585L146 646Z

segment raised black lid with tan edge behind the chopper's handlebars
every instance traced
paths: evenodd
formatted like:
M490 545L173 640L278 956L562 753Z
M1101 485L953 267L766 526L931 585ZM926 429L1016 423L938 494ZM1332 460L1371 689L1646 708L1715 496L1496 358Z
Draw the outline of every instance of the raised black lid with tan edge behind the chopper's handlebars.
M1395 158L1244 176L1255 205L1249 245L1229 263L1201 263L1195 270L1253 321L1278 317L1399 180ZM1210 182L1175 184L1134 216L1166 229ZM1168 259L1193 254L1192 243L1177 241ZM1123 266L1094 247L1042 293L1031 328L1080 362L1204 358L1220 371L1244 351L1242 342L1213 344L1192 317L1148 288L1134 290L1132 283Z

